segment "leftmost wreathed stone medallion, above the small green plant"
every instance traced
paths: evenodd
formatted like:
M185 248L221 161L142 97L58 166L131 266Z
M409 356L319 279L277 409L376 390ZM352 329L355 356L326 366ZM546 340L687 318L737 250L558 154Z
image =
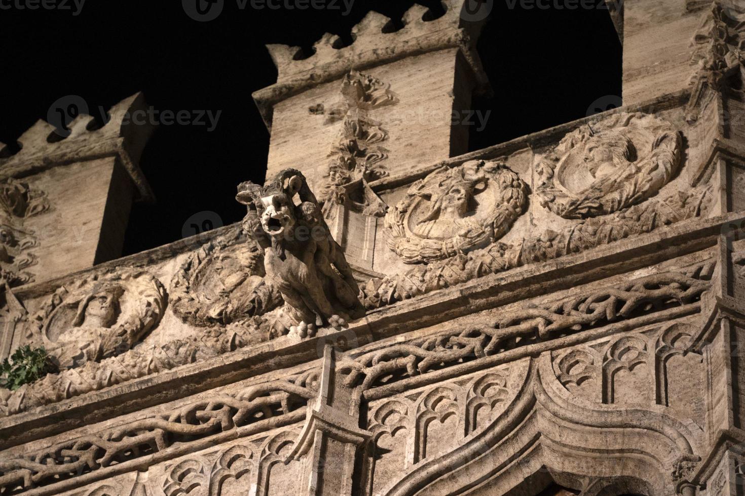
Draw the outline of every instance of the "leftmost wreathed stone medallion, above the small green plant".
M165 289L145 271L118 269L60 287L31 323L31 340L60 367L119 355L160 321Z

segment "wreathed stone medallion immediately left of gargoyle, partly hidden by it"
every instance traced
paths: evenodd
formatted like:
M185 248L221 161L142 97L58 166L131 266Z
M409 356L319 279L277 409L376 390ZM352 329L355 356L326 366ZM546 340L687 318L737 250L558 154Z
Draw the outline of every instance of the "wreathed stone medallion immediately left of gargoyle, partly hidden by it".
M282 304L264 283L264 251L235 231L191 254L171 281L171 309L195 326L227 324Z

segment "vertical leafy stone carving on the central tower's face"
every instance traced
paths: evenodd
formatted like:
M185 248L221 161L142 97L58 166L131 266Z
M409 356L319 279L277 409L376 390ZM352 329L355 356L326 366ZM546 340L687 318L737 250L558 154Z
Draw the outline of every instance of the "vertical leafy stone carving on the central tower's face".
M346 204L367 215L383 216L386 206L367 183L388 175L384 166L387 150L381 146L388 133L368 114L370 110L395 105L398 98L389 85L358 71L343 77L341 95L343 101L329 109L325 118L326 123L343 123L329 151L329 171L320 194L323 213L329 216L333 204ZM309 110L314 114L325 112L322 104ZM355 188L361 188L362 194L353 195Z

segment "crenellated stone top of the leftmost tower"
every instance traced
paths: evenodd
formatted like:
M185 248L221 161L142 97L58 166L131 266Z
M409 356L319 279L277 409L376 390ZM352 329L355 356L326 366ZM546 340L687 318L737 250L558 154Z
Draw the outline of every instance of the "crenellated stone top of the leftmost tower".
M89 129L93 117L78 115L69 124L70 134L64 139L54 135L55 128L50 123L37 120L18 138L19 152L0 158L0 181L25 178L60 165L115 156L135 185L136 199L153 202L155 197L140 170L139 159L153 134L154 124L147 119L136 122L135 112L147 112L142 93L112 106L108 122L99 129ZM50 139L51 136L54 139ZM3 148L4 144L0 143L0 150Z

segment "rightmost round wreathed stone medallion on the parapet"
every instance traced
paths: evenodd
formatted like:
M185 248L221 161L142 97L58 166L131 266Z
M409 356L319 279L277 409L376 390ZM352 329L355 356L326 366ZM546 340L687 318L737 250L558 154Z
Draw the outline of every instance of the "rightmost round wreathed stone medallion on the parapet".
M614 213L655 195L680 164L671 123L617 114L566 135L536 167L541 204L565 219Z

